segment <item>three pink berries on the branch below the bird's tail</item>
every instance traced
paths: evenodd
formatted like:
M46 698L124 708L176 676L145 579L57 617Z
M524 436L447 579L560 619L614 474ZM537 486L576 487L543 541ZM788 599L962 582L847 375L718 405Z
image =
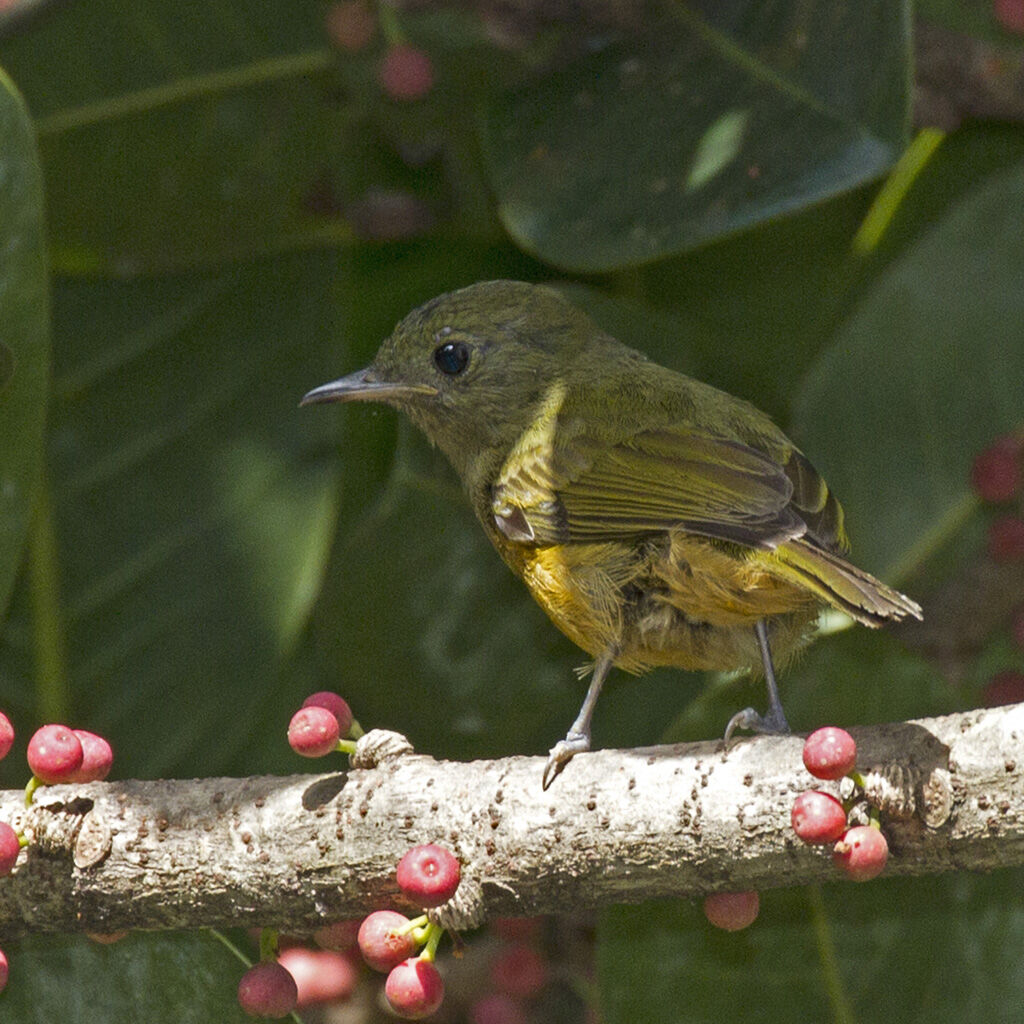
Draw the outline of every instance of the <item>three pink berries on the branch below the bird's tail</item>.
M857 785L863 779L856 770L857 744L845 729L824 726L804 743L804 767L815 777L837 781L849 776ZM878 812L870 823L847 826L852 802L842 803L829 793L808 790L797 797L791 821L793 830L811 844L835 844L833 863L854 882L867 882L881 874L889 859L889 844L882 833Z

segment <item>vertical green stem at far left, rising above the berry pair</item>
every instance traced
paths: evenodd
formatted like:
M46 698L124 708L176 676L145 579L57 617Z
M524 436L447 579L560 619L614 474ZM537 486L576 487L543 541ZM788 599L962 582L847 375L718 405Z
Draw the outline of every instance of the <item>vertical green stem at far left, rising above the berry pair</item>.
M38 714L43 722L68 718L71 699L65 667L59 557L49 481L40 480L29 526L29 594Z

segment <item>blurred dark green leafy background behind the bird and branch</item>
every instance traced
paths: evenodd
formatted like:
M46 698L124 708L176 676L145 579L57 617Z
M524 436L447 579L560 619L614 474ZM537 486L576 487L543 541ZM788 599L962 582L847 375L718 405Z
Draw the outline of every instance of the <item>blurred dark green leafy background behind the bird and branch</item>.
M769 411L842 498L858 559L926 611L983 557L970 463L1024 423L1024 132L967 126L880 190L907 142L904 4L588 0L572 23L525 0L382 5L351 52L321 2L10 6L0 65L28 111L0 79L0 706L17 754L66 718L111 737L122 776L296 771L288 718L325 687L438 756L564 732L584 658L436 453L385 410L297 409L473 281L552 281ZM420 100L378 84L398 42L433 61ZM963 657L953 684L893 632L822 639L783 678L792 721L942 713L996 659L1022 667L1001 635ZM620 678L595 738L715 735L751 699L731 677ZM4 784L24 782L15 760ZM688 907L610 910L605 1019L869 1020L883 990L924 1008L899 1019L1010 1019L1020 884L773 893L743 936ZM26 943L0 1007L230 1020L217 950Z

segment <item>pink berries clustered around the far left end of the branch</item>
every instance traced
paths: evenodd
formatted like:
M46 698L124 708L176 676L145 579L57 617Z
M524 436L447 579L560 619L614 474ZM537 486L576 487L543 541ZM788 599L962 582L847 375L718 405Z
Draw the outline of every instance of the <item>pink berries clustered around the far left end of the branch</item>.
M13 744L14 727L0 712L0 761L7 757ZM67 725L44 725L37 729L29 740L27 757L32 778L25 787L26 806L31 806L40 785L98 782L106 778L114 764L114 752L102 736L85 729L70 729ZM8 822L0 821L0 878L14 870L24 846L28 846L26 837ZM0 992L7 985L7 957L0 949Z

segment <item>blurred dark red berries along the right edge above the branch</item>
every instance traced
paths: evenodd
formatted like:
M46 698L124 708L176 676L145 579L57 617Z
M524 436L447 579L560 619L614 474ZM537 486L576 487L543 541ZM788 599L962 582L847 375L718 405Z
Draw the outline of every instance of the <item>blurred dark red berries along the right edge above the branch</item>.
M1024 562L1024 433L997 437L971 466L971 486L986 504L997 507L988 524L988 557L996 564ZM1024 606L1011 624L1014 646L1024 651ZM982 691L989 708L1024 700L1024 673L997 672Z

